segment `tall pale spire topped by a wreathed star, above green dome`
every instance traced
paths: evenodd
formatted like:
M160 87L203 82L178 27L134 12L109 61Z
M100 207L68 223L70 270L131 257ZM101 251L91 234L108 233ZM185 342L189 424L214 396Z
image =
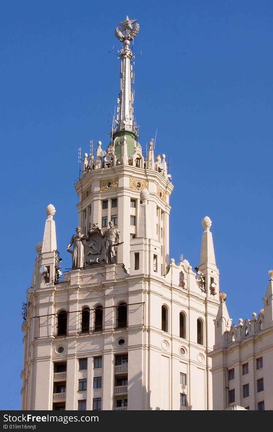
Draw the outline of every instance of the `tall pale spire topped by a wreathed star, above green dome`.
M130 41L138 34L139 24L134 24L136 19L129 19L127 15L123 22L118 22L121 29L116 27L115 35L123 42L124 48L120 51L120 93L118 97L118 108L116 126L117 130L134 130L133 127L133 102L134 90L131 91L131 82L134 83L134 73L132 72L131 60L133 57L132 51L129 48Z

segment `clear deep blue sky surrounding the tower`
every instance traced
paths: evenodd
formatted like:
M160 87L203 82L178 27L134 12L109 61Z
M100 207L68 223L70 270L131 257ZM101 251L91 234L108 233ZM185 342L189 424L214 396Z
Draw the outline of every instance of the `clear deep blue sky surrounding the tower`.
M157 130L170 157L171 257L198 265L201 220L213 221L220 289L230 317L262 308L272 258L271 0L2 1L2 392L20 409L21 304L45 207L56 207L63 268L77 218L78 147L110 141L119 92L116 23L138 19L139 141ZM113 48L114 45L114 48ZM113 49L112 49L113 48Z

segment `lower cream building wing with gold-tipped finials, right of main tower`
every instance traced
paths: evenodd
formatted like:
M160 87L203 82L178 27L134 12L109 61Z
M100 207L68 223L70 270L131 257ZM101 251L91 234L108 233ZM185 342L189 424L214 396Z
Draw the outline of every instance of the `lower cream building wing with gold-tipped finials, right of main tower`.
M271 271L271 273L273 273ZM212 358L213 410L239 405L248 410L273 410L273 279L264 308L251 320L231 325L222 300L215 320Z

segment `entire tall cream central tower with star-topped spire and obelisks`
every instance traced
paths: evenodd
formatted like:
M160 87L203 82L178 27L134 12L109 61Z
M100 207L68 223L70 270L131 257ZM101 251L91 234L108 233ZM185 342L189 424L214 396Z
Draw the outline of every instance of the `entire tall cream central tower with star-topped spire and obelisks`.
M210 359L219 307L211 221L204 218L197 274L169 260L165 155L153 141L142 154L133 119L127 16L116 37L120 93L106 150L85 153L78 227L60 278L55 208L47 206L43 243L27 292L22 371L23 410L212 409ZM183 229L181 227L180 229Z

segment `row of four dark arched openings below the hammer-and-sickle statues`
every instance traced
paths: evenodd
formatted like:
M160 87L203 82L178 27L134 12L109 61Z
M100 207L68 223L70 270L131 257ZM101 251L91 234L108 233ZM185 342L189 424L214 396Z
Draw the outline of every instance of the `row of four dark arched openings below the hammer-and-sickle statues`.
M116 306L116 328L127 326L127 304L122 302ZM103 330L103 307L98 305L94 310L93 331ZM81 312L81 333L90 331L90 309L83 308ZM60 311L57 314L57 336L67 334L67 311Z

